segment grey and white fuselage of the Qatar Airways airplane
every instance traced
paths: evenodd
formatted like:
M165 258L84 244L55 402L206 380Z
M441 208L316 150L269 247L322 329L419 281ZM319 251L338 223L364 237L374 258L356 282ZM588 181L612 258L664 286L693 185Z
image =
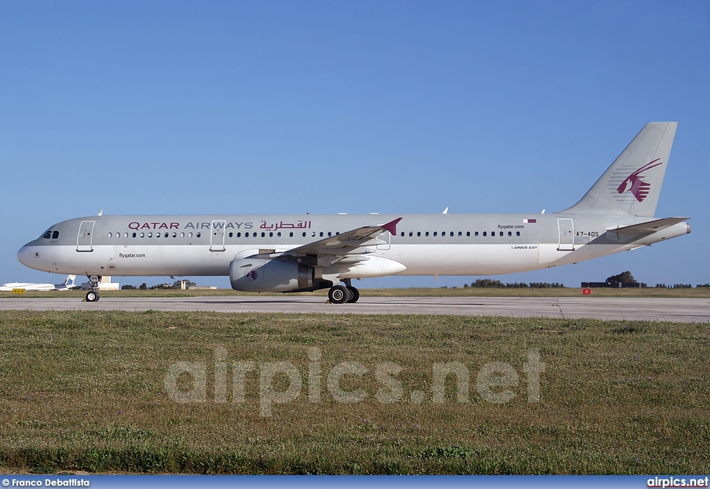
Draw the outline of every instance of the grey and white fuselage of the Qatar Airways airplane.
M341 278L491 275L526 272L638 248L689 232L680 222L646 237L608 229L639 217L493 215L162 215L92 216L60 222L57 240L18 252L28 267L59 274L229 275L235 257L286 252L323 237L403 217L395 235L364 247L367 259L339 264ZM307 228L277 227L305 222ZM265 227L261 227L266 224ZM88 237L81 227L91 227ZM303 234L305 233L305 237ZM291 236L293 234L293 236Z

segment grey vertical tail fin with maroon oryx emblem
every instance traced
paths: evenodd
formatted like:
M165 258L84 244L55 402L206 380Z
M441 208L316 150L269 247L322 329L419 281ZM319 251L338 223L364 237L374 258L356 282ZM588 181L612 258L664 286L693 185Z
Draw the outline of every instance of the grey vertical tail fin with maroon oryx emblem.
M677 122L650 122L578 203L560 214L653 217Z

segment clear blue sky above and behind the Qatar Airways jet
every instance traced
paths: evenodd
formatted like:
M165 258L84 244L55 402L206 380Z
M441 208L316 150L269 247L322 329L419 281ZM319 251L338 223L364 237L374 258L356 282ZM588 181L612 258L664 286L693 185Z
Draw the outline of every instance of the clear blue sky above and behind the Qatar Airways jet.
M63 281L17 249L100 209L562 210L665 120L691 235L498 278L710 281L707 1L2 2L0 45L0 283Z

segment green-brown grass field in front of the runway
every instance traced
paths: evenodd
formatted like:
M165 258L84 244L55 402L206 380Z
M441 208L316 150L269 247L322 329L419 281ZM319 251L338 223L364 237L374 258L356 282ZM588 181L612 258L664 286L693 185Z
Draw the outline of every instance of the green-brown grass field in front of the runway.
M709 326L1 311L0 467L35 473L709 473ZM317 362L309 358L312 348L320 352ZM530 402L524 364L535 350L545 371L540 401ZM255 369L246 375L244 402L234 402L239 391L235 396L231 365L247 361ZM200 392L198 377L168 375L178 362L204 367L203 402L178 403L166 391L168 377L180 392ZM262 416L264 392L277 396L293 387L283 374L266 375L275 362L292 365L302 387L295 399L271 404L271 416ZM366 369L339 382L346 392L363 389L359 402L344 404L332 395L329 375L342 362ZM398 400L396 389L376 378L383 362L402 369L388 377L401 383ZM464 391L454 377L443 402L434 402L436 362L466 367L468 402L459 402ZM484 373L491 362L508 364L510 385L490 387L493 377ZM481 375L493 394L512 398L486 400L490 392L478 389ZM264 379L271 390L263 389ZM318 382L311 385L313 379ZM320 402L310 398L315 386ZM395 402L378 400L382 389ZM226 402L219 402L223 396Z

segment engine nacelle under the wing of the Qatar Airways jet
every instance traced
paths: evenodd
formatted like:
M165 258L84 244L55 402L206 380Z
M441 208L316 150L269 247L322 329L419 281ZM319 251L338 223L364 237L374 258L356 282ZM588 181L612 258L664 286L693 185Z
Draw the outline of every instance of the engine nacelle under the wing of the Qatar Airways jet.
M231 288L243 292L290 292L313 287L313 267L268 258L239 258L229 264Z

